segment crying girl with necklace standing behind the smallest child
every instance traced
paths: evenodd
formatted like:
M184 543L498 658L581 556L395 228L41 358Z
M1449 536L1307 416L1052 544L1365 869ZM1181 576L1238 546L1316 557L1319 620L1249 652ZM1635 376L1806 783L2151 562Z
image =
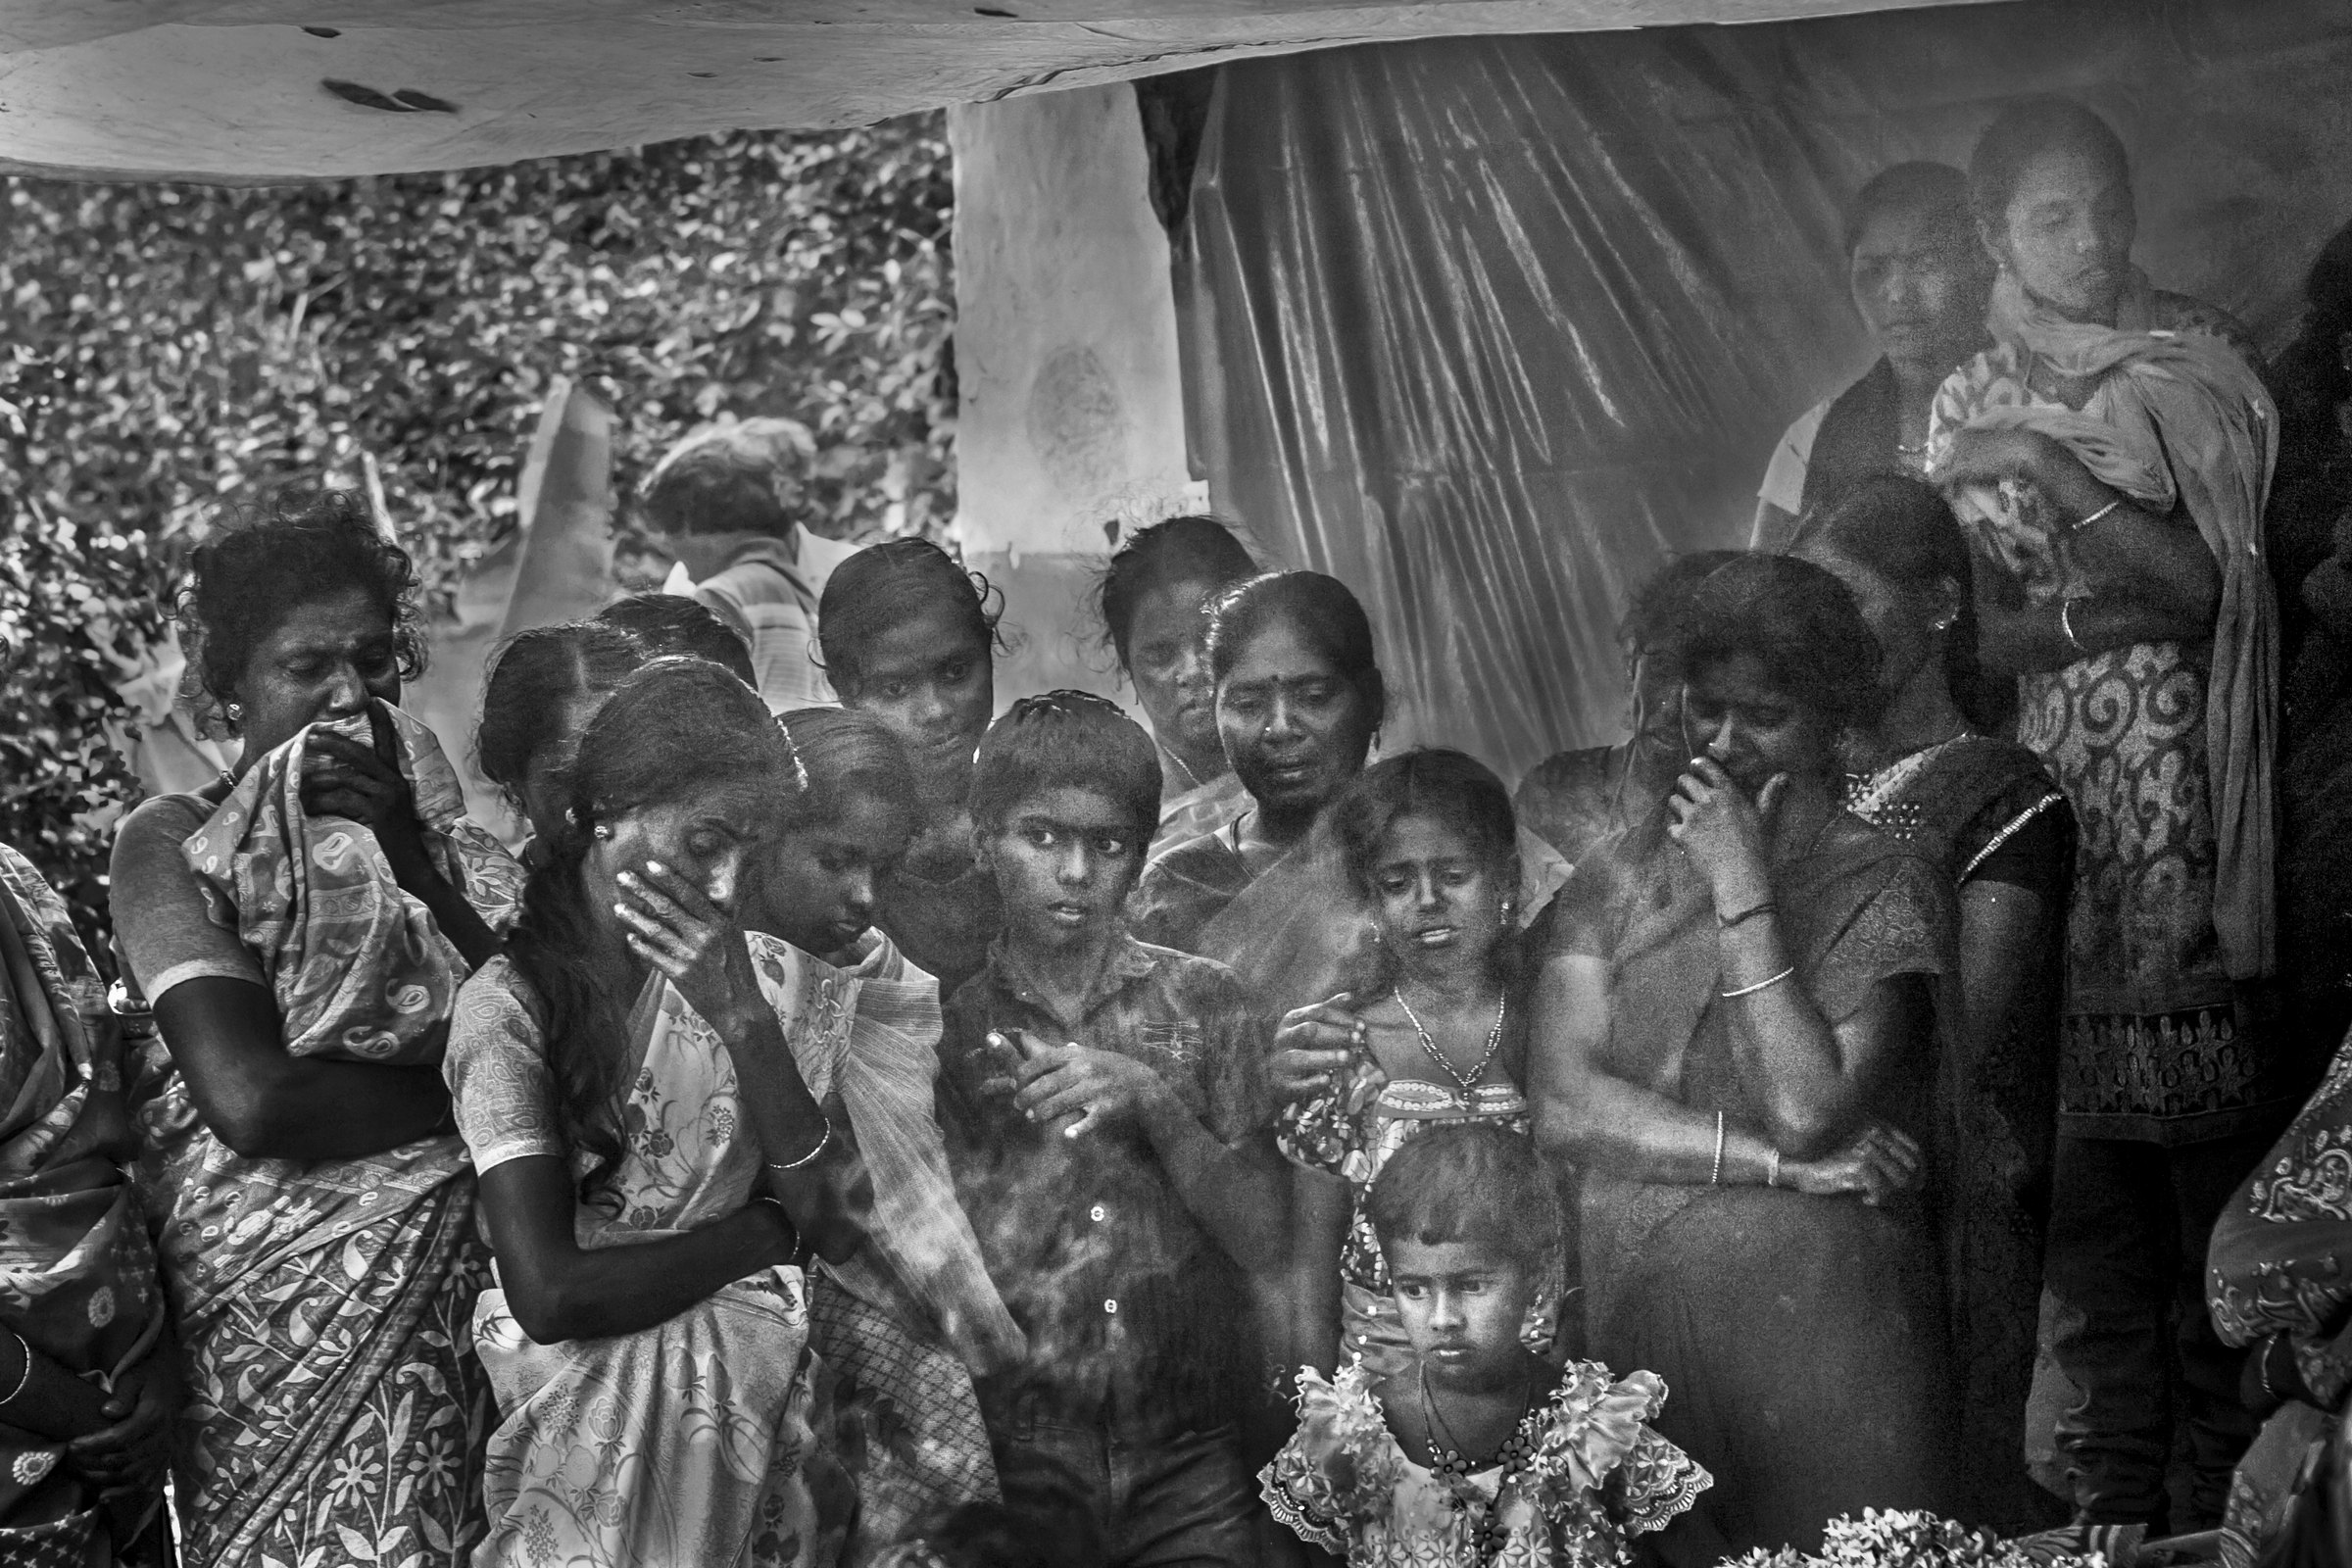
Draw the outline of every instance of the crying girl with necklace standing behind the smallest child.
M1275 1091L1289 1100L1279 1145L1296 1166L1296 1347L1324 1371L1362 1356L1392 1373L1411 1349L1367 1190L1432 1126L1526 1135L1517 825L1503 780L1449 750L1364 769L1327 820L1371 943L1369 973L1294 1009L1275 1044ZM1524 1324L1541 1352L1552 1349L1557 1276L1555 1258Z

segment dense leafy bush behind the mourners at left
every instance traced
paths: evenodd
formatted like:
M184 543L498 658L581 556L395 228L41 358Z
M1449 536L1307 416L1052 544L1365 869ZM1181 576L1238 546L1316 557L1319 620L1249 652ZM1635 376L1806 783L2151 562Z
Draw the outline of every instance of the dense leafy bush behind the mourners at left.
M569 376L619 414L623 494L691 425L779 414L816 440L821 531L955 508L936 115L320 186L9 179L7 202L0 837L92 933L127 797L108 679L223 501L372 461L445 604Z

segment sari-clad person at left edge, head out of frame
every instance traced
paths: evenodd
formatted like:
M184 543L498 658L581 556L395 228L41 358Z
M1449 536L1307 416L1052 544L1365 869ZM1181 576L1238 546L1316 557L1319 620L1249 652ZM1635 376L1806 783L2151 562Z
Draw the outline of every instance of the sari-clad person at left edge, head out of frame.
M0 1561L165 1563L179 1349L122 1056L64 900L0 844Z

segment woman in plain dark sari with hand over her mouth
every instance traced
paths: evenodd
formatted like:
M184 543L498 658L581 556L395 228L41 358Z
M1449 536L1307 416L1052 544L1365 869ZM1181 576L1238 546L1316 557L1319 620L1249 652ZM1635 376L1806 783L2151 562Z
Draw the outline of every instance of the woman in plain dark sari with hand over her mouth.
M1947 1497L1919 1135L1952 891L1839 804L1879 649L1837 578L1733 559L1670 651L1691 762L1559 893L1536 1138L1583 1171L1592 1354L1658 1371L1672 1439L1719 1476L1677 1530L1722 1540L1689 1552L1813 1552L1828 1519Z

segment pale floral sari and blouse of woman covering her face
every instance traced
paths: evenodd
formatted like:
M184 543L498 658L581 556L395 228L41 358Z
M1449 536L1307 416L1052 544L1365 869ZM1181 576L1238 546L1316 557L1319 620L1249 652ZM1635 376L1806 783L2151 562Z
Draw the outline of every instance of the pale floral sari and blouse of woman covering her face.
M468 1143L560 1154L555 1086L529 983L492 959L449 1041ZM581 1204L586 1248L701 1229L753 1201L760 1145L734 1058L659 976L630 1013L626 1145L609 1201ZM494 1161L492 1161L494 1164ZM574 1154L586 1171L588 1154ZM499 1401L473 1568L814 1568L840 1556L851 1502L816 1441L809 1293L797 1267L736 1279L637 1333L539 1345L506 1291L473 1316Z

